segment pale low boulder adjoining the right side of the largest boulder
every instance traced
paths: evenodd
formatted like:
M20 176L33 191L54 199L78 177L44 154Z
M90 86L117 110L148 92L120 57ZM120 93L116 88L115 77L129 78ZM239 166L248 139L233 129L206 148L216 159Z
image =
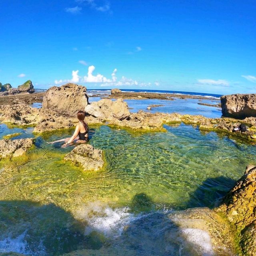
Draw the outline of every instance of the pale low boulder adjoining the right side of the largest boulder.
M87 115L102 120L124 120L130 116L128 105L122 99L112 101L109 99L99 100L87 105L84 109Z

